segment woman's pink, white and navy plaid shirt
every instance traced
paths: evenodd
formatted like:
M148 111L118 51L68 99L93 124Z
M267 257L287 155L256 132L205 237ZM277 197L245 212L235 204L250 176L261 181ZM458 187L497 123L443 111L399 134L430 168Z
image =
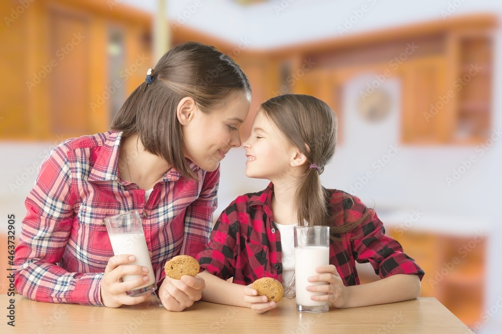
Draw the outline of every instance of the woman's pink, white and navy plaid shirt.
M157 281L164 263L196 256L209 241L219 168L171 169L145 203L145 191L118 176L121 132L68 139L41 163L26 199L14 267L20 294L45 302L102 305L100 280L113 251L103 219L139 210Z

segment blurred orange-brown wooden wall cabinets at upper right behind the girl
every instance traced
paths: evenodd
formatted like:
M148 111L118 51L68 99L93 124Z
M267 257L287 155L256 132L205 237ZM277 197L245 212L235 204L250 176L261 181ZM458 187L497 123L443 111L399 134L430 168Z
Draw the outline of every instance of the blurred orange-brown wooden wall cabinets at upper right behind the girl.
M459 17L278 52L293 71L301 70L299 60L312 59L315 65L293 92L325 100L337 115L339 88L352 77L367 75L373 85L375 78L392 76L402 88L403 144L477 144L492 132L491 34L496 25L494 16Z

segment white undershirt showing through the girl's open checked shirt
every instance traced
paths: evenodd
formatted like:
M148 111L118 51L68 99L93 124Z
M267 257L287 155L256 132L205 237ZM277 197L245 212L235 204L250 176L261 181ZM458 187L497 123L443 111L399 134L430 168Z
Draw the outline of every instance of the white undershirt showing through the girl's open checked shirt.
M275 223L281 233L283 287L286 297L292 297L295 293L295 233L293 225L281 225Z

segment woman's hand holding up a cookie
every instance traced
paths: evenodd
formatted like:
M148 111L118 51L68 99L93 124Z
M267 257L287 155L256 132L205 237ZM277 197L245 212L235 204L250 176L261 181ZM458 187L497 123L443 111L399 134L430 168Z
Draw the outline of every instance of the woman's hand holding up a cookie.
M183 275L181 279L166 276L159 288L162 305L169 311L180 312L202 297L206 282L200 276Z

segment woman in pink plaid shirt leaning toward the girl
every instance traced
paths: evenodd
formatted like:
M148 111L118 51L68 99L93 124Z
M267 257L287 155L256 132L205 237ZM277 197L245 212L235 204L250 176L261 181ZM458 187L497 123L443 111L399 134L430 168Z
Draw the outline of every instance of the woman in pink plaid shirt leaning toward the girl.
M167 52L127 99L112 130L68 139L42 162L26 199L15 255L20 294L45 302L118 307L149 295L125 292L149 281L134 256L113 256L103 219L139 210L162 304L180 311L204 281L164 279L175 255L208 242L219 162L240 146L250 106L246 75L198 43ZM124 275L141 275L121 282Z

